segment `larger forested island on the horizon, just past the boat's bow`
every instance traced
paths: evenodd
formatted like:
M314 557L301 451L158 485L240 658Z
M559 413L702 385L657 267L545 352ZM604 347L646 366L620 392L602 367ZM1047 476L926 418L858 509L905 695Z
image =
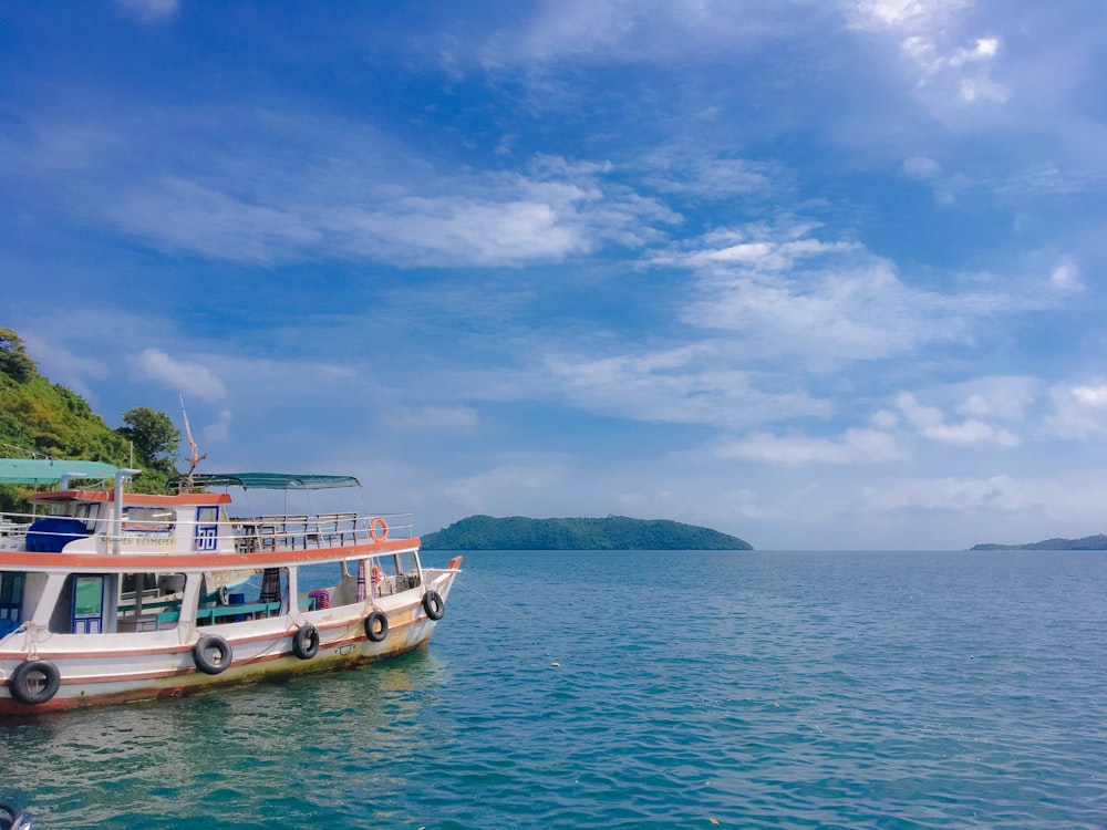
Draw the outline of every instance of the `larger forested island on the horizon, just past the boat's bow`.
M753 550L736 536L666 519L470 516L423 537L424 550Z

